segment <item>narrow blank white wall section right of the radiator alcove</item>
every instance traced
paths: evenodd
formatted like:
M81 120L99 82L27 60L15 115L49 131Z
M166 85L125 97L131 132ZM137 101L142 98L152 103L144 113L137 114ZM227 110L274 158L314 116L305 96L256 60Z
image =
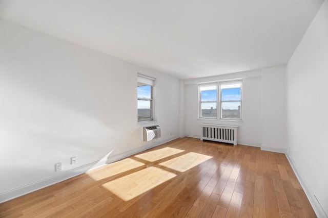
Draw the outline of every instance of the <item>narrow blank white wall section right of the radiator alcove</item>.
M262 150L286 152L286 67L262 69Z

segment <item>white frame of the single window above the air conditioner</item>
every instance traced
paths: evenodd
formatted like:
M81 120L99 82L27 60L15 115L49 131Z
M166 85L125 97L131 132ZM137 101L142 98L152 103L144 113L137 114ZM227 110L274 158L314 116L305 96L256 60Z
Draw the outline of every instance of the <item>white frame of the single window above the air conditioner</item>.
M150 91L151 91L151 96L150 98L139 98L138 97L138 83L142 83L139 82L139 78L142 78L142 80L149 80L152 81L152 84L147 84L147 83L143 83L145 85L149 85L151 87ZM146 75L142 75L142 74L138 74L137 75L137 122L147 122L147 121L153 121L154 120L154 86L155 86L155 78L146 76ZM139 119L138 117L138 101L149 101L150 102L150 117L149 118L144 118L144 119Z

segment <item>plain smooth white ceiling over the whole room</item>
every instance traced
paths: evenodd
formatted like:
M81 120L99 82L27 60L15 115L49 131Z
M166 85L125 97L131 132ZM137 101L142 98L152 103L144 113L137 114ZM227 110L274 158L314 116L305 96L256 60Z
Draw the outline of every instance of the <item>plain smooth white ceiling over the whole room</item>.
M0 18L178 78L285 64L323 0L0 0Z

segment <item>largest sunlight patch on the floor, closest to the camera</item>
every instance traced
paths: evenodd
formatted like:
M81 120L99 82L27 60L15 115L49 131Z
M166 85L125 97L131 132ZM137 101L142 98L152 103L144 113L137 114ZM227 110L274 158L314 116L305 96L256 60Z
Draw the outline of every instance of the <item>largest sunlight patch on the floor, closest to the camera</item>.
M103 184L103 187L114 193L120 199L129 201L174 177L176 175L173 173L151 166L107 182Z

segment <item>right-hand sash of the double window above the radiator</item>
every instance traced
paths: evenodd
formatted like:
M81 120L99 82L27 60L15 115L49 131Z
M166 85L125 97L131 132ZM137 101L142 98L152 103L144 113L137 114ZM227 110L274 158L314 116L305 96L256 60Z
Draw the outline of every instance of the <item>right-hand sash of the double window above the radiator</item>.
M221 119L241 119L241 82L220 83Z

